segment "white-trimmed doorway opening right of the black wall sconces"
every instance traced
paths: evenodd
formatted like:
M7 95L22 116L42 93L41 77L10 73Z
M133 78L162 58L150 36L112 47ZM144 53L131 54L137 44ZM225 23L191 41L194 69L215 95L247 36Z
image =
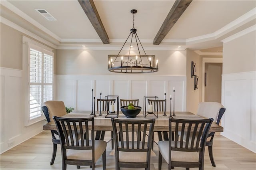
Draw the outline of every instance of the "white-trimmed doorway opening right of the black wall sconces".
M202 102L221 103L222 58L202 58Z

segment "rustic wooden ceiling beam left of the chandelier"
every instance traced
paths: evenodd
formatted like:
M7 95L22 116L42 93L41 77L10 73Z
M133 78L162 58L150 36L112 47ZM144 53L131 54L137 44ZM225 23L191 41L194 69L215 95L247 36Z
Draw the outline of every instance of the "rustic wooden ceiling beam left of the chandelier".
M100 20L100 15L98 14L93 0L78 0L78 2L83 8L84 13L87 15L88 19L92 23L92 26L99 35L101 41L104 44L109 44L108 34Z

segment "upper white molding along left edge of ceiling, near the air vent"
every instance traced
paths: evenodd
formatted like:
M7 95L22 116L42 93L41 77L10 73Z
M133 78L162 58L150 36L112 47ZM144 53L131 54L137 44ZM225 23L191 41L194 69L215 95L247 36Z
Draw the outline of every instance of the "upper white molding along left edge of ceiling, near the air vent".
M8 8L9 10L11 10L12 12L14 12L15 14L17 14L18 16L22 17L24 20L27 20L28 22L30 22L31 24L33 24L40 30L44 31L46 34L48 34L48 35L52 36L53 38L55 38L56 40L60 41L60 37L58 37L56 34L54 34L50 30L48 30L47 28L45 28L44 26L39 24L36 20L32 19L30 16L28 16L27 14L22 12L16 6L12 5L10 2L8 2L6 0L1 0L1 4L3 6L5 6L6 8Z

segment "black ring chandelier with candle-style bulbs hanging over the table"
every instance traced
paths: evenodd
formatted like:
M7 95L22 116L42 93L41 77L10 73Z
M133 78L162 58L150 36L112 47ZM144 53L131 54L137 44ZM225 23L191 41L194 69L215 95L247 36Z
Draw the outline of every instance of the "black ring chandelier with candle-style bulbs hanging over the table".
M131 36L131 42L129 47L128 55L122 55L121 51L124 47L120 49L118 55L108 55L108 71L115 72L115 73L154 73L158 71L158 60L154 58L154 55L146 55L146 52L140 42L140 39L136 33L136 29L134 28L134 14L137 13L137 10L131 10L133 14L133 28L130 30L130 34L124 45L126 44L127 40ZM132 40L135 39L138 55L130 55L131 48L132 48ZM138 40L138 41L137 41ZM140 48L138 42L141 46L141 49L144 51L145 55L140 54Z

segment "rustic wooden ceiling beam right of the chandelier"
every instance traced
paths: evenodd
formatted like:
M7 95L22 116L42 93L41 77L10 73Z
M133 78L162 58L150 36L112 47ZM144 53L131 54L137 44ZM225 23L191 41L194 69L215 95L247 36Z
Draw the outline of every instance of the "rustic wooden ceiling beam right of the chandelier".
M159 45L164 37L168 34L174 24L178 21L183 12L187 9L192 0L176 0L166 16L161 28L154 38L154 45Z

